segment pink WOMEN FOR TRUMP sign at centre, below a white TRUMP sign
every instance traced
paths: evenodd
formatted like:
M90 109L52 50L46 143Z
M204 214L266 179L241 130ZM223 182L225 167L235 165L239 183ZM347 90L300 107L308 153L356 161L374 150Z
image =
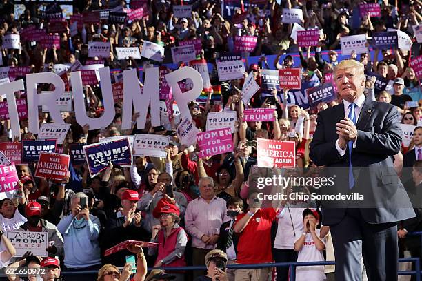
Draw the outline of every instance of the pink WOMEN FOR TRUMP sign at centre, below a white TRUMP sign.
M233 151L232 129L214 129L197 134L199 158Z

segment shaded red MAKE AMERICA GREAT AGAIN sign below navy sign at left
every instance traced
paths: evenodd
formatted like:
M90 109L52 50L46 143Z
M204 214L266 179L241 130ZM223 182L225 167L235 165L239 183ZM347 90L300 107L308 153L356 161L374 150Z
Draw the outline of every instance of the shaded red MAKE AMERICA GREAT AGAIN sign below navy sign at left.
M70 156L66 154L41 152L35 176L37 178L65 180L69 170L69 161Z

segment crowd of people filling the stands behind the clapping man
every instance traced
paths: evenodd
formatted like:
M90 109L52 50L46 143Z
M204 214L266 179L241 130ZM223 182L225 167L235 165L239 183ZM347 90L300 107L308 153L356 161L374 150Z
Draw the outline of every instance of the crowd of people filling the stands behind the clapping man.
M283 200L264 208L252 197L256 196L252 182L261 175L271 177L280 173L279 169L264 171L256 167L257 138L294 142L296 169L287 173L290 176L317 176L316 165L310 158L317 116L328 107L342 103L341 97L321 101L315 107L301 107L294 103L294 96L288 89L261 87L245 103L241 90L250 72L258 85L262 85L262 71L265 69L300 68L302 89L306 90L332 82L327 80L326 74L332 74L340 61L360 61L367 75L366 98L394 105L399 112L398 122L414 126L412 136L402 136L401 152L394 155L394 169L410 190L420 188L422 88L419 79L422 76L410 67L410 62L419 56L420 51L415 28L422 21L421 1L75 0L60 4L72 6L72 14L83 14L83 17L97 10L128 12L128 9L142 7L143 17L127 18L123 23L108 19L99 19L96 23L78 22L77 30L72 28L71 31L72 15L66 18L63 13L65 24L63 32L59 32L59 46L52 48L43 48L39 41L25 39L28 37L26 32L23 37L22 31L27 28L34 27L49 34L52 28L57 28L54 25L59 24L52 21L49 14L57 9L61 11L60 6L39 2L1 0L0 41L3 42L9 34L21 34L21 37L19 49L0 50L0 79L8 77L12 81L25 79L28 73L55 72L61 77L64 75L68 81L70 65L79 61L81 65L110 67L112 83L121 82L119 74L130 69L141 70L137 73L139 80L143 81L142 70L151 65L165 66L168 72L184 67L183 62L172 63L171 48L186 40L199 39L201 50L197 59L207 61L214 90L203 92L203 98L190 101L188 108L194 125L201 132L206 131L208 113L236 112L237 121L232 133L234 149L199 158L197 145L183 145L177 136L177 122L180 121L177 116L169 121L167 115L161 114L161 125L153 127L148 115L144 129L138 129L136 122L132 122L131 130L123 130L121 99L114 105L112 123L102 129L90 129L88 125L77 123L74 112L61 112L64 121L71 125L60 146L62 154L69 154L70 145L75 143L92 144L112 136L158 134L170 136L165 148L167 155L164 158L134 156L132 167L110 162L107 169L93 177L87 163L74 165L71 161L68 176L62 181L35 177L37 163L16 164L18 188L0 201L0 267L8 280L53 281L59 280L63 272L79 271L98 273L95 276L92 273L68 274L63 279L288 280L289 267L234 269L227 266L335 260L330 227L321 225L323 214L319 202ZM359 5L362 3L378 3L381 15L371 17L368 13L361 16ZM173 6L179 5L191 5L191 17L174 17ZM19 6L21 14L17 14ZM283 23L283 8L300 9L303 20L299 25L305 30L321 30L317 46L299 47L297 39L291 37L293 23ZM234 22L242 16L243 19ZM368 53L341 55L341 37L366 34L369 38L388 28L408 34L413 41L412 48L372 50L371 47ZM257 45L247 55L234 54L236 36L257 37ZM88 43L91 41L110 42L110 55L89 57ZM117 58L115 48L136 47L141 53L145 41L164 48L162 61L145 57ZM242 79L219 81L216 62L220 56L228 54L243 59L246 72ZM65 70L62 70L63 65L66 65ZM17 67L21 67L20 70L11 76L11 70ZM377 81L381 80L386 81L383 90L377 87ZM336 83L335 77L333 81ZM71 91L70 85L66 87ZM53 90L51 84L38 85L39 92L48 90ZM104 110L101 85L98 81L84 85L83 91L88 115L93 118L101 116ZM6 101L1 94L0 101ZM27 94L19 91L15 96L26 99ZM275 121L245 122L243 112L247 108L273 108ZM139 114L134 113L133 121L138 117ZM50 114L40 107L40 125L50 121ZM0 142L19 143L19 140L36 138L36 134L30 132L28 118L20 118L19 126L21 136L17 138L12 134L12 122L0 118ZM295 188L290 186L285 192L290 193ZM313 191L313 187L301 188L306 194ZM408 237L408 233L422 230L421 208L422 205L416 202L416 218L397 222L402 256L405 250L410 250L412 256L421 257L419 238ZM30 253L30 249L23 256L17 255L6 235L8 231L48 233L47 256L37 256ZM127 249L105 255L107 249L128 240L153 242L158 246L132 244ZM128 262L128 256L136 256L136 266ZM205 265L207 269L163 270L189 265ZM26 275L13 271L20 267L46 271ZM136 273L132 271L135 267ZM157 269L147 275L147 267ZM334 280L333 266L303 266L295 270L299 281ZM362 276L365 276L364 267Z

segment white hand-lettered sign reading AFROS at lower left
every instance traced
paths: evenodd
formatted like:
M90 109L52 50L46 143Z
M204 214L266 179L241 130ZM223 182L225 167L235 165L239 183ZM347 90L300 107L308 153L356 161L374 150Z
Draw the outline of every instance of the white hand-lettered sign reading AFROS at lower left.
M7 231L5 235L16 249L15 256L21 257L27 251L35 256L47 256L48 232Z

